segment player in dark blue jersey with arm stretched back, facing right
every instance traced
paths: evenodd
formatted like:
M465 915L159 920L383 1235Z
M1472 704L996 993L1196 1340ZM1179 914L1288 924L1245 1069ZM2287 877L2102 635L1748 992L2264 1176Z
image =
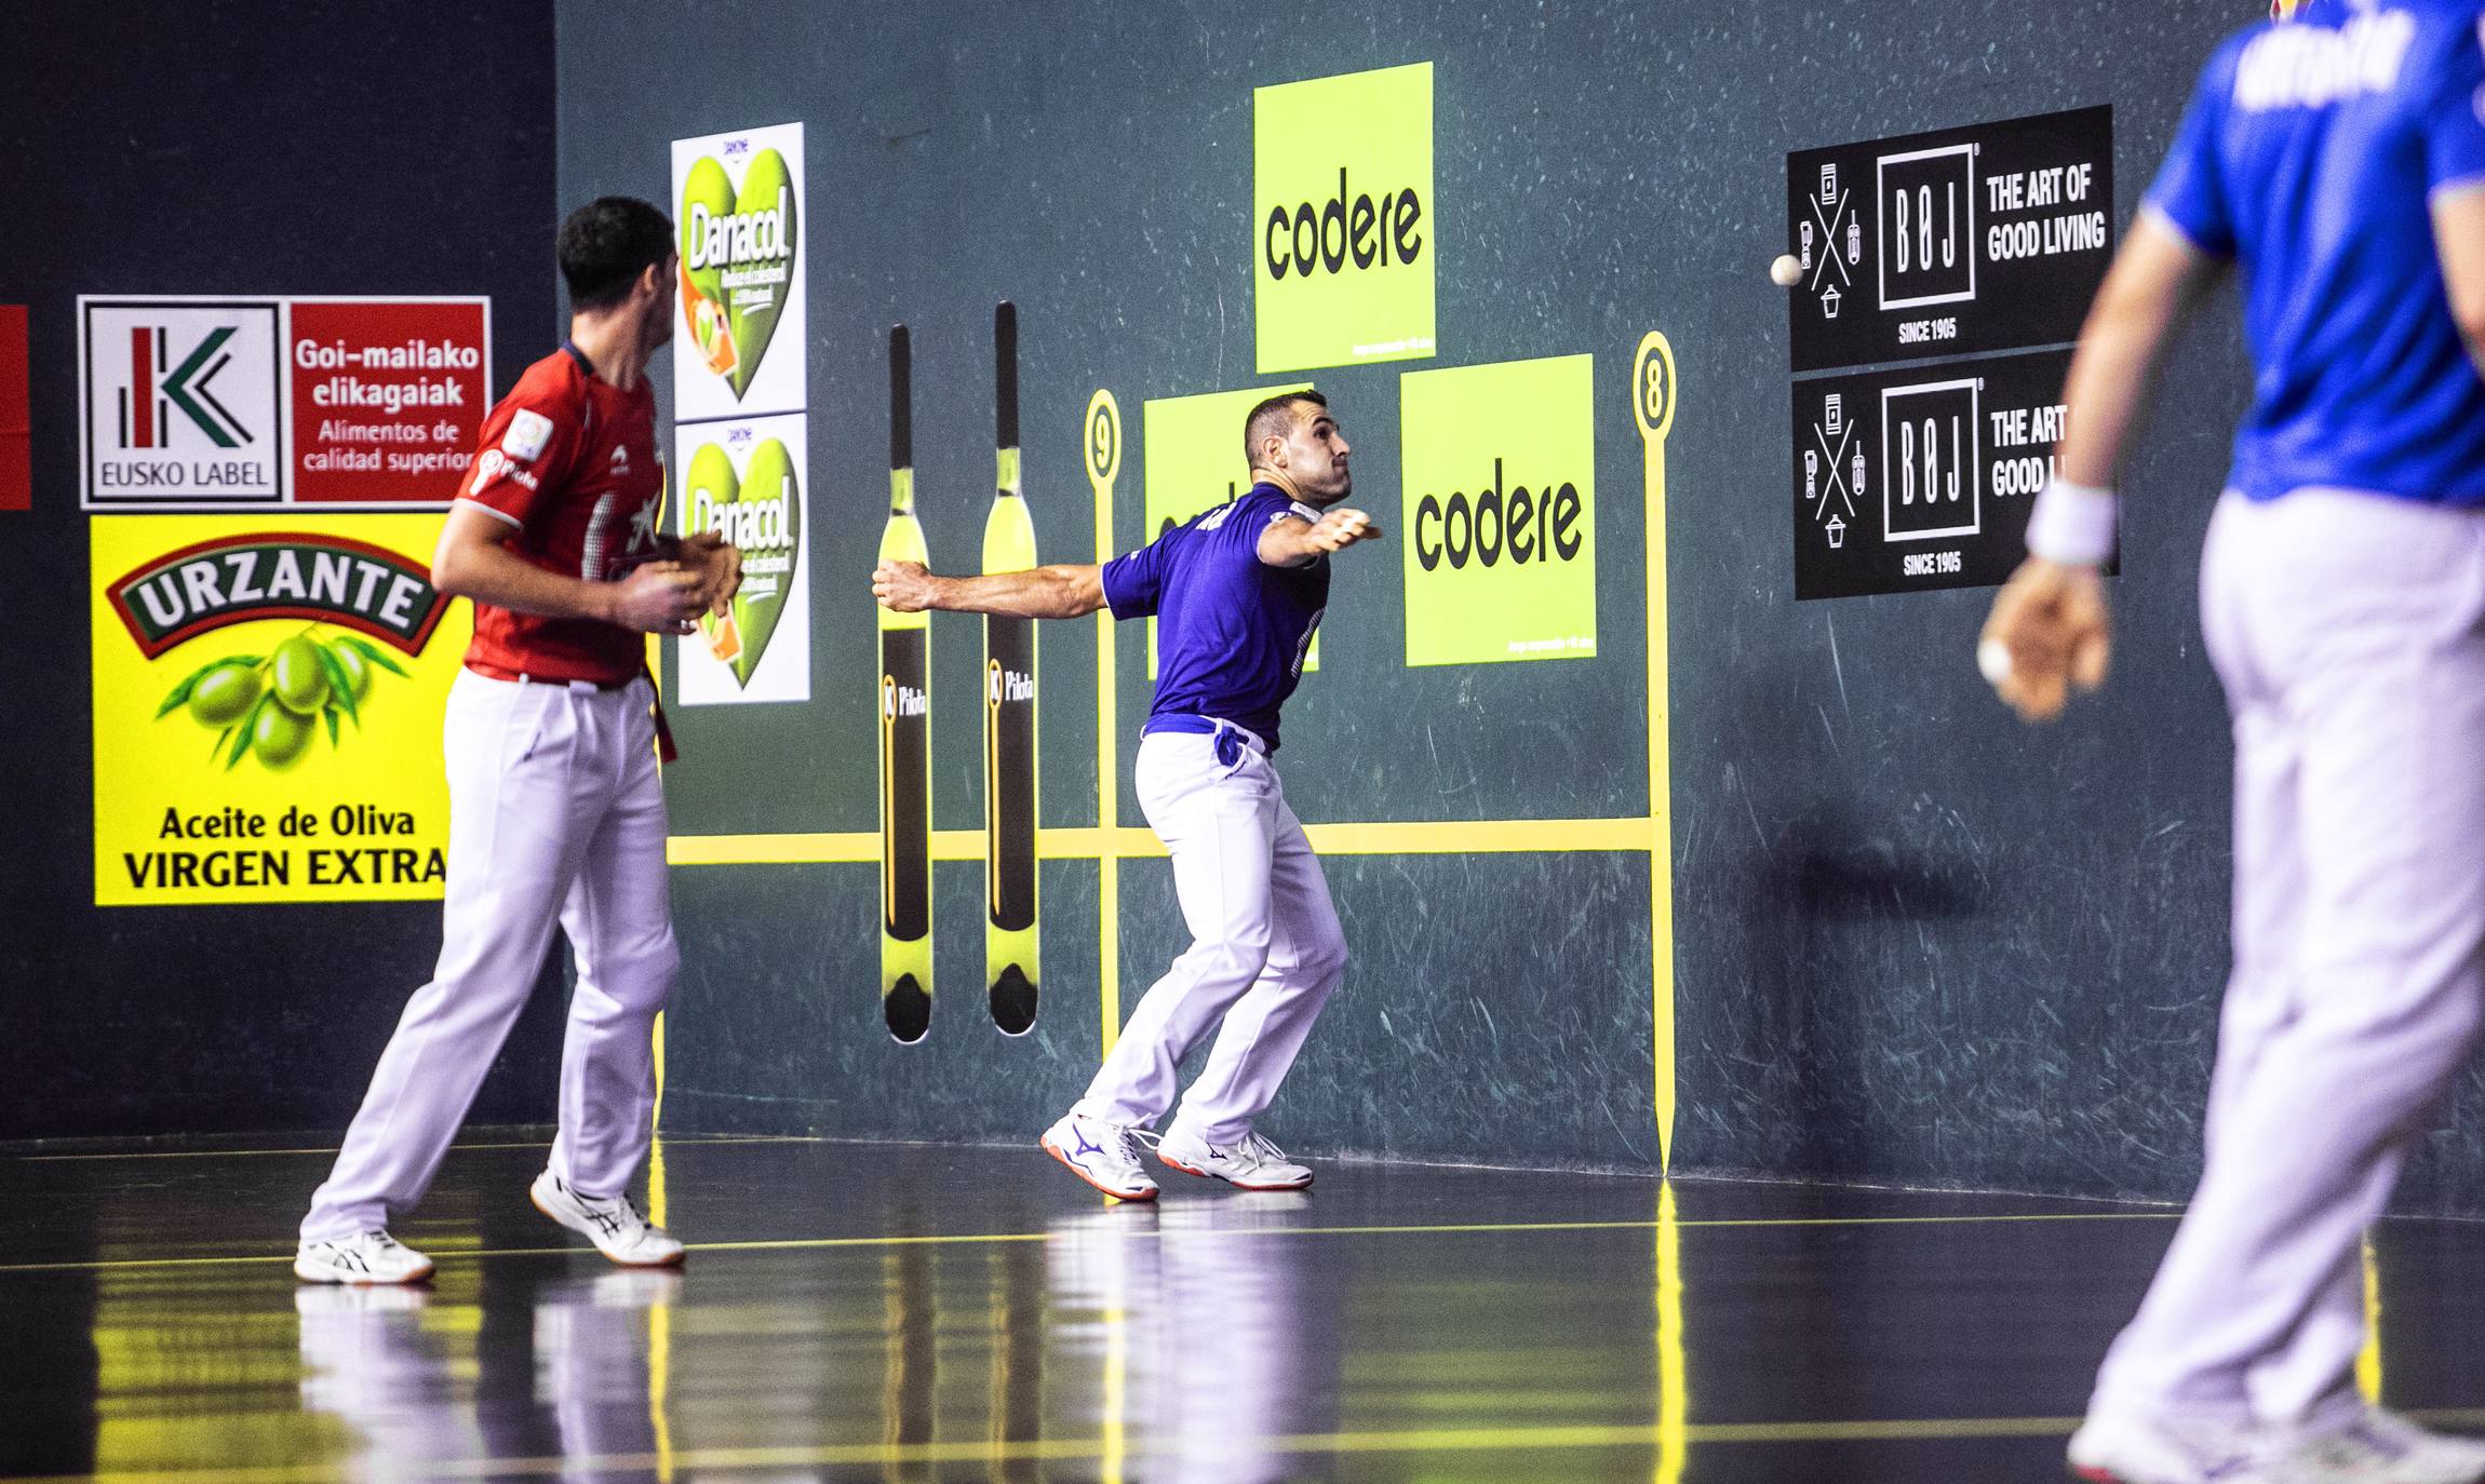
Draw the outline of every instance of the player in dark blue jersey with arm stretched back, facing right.
M1242 423L1252 487L1103 567L934 577L885 562L872 597L897 611L1029 619L1156 616L1156 703L1138 743L1138 803L1173 858L1190 950L1131 1012L1078 1104L1044 1148L1123 1201L1156 1198L1141 1143L1175 1171L1245 1191L1295 1191L1312 1171L1252 1121L1347 967L1329 885L1285 805L1270 753L1277 708L1329 604L1329 552L1382 532L1339 510L1347 437L1320 393L1275 395ZM1183 1056L1223 1019L1183 1094ZM1175 1109L1180 1096L1180 1109ZM1158 1138L1156 1121L1173 1111Z

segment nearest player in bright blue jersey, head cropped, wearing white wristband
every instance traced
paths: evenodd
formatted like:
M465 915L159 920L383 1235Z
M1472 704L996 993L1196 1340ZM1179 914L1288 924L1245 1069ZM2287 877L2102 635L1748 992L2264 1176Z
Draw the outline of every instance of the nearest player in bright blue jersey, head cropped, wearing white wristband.
M2234 711L2234 972L2207 1161L2072 1472L2485 1477L2366 1407L2358 1238L2485 1019L2485 32L2311 0L2232 37L2070 365L2058 477L1978 661L2028 718L2105 679L2097 562L2145 383L2222 263L2254 403L2202 554Z

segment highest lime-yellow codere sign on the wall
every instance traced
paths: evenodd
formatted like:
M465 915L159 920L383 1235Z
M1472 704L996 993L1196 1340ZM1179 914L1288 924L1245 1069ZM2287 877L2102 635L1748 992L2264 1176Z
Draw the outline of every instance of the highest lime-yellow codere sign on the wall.
M1260 373L1431 355L1431 62L1252 92Z

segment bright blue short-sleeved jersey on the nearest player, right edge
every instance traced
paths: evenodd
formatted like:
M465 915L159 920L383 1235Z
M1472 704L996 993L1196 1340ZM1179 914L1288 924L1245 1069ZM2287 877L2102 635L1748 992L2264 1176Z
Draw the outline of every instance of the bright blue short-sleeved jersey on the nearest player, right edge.
M2428 199L2485 189L2478 0L2309 0L2202 72L2147 206L2241 263L2256 370L2232 485L2485 505L2485 380Z

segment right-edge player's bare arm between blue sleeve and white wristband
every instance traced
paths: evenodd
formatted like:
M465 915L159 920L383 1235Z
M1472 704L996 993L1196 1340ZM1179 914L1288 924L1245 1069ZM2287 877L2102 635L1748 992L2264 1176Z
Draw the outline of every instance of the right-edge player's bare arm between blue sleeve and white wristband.
M2130 447L2157 360L2214 276L2217 259L2147 211L2140 214L2097 288L2097 303L2080 326L2080 348L2070 358L2063 385L2070 425L2055 450L2065 480L2095 490L2115 485L2115 467Z

